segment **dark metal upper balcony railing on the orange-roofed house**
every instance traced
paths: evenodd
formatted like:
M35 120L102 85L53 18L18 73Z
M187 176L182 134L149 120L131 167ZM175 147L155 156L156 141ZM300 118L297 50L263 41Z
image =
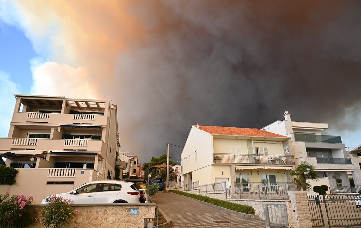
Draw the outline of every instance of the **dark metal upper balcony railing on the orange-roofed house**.
M292 155L214 154L214 163L295 164Z

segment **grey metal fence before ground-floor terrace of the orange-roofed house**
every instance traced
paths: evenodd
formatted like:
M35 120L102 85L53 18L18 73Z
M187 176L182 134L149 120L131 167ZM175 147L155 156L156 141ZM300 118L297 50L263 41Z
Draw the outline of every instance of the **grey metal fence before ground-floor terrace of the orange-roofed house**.
M227 189L227 199L288 199L286 183L251 184Z

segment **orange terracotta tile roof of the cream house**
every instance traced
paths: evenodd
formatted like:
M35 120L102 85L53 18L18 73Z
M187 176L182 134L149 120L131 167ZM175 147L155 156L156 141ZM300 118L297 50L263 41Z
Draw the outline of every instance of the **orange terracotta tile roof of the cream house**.
M197 127L197 125L193 125ZM235 128L235 127L218 127L218 126L202 126L200 130L204 130L213 135L238 135L238 136L260 136L260 137L281 137L288 138L284 135L259 130L257 128Z

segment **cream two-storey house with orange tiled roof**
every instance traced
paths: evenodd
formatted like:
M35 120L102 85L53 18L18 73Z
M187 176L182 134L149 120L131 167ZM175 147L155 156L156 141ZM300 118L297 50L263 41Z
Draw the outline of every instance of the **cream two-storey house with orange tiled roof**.
M294 157L289 137L258 129L192 126L181 155L182 180L199 185L226 181L227 188L290 182Z

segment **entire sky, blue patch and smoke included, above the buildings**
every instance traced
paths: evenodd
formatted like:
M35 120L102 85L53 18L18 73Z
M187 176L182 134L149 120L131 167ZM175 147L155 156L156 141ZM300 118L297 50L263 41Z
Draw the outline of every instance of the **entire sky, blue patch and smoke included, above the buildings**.
M0 0L0 137L14 94L108 99L149 162L192 125L328 123L361 144L361 1ZM181 147L171 150L180 160Z

